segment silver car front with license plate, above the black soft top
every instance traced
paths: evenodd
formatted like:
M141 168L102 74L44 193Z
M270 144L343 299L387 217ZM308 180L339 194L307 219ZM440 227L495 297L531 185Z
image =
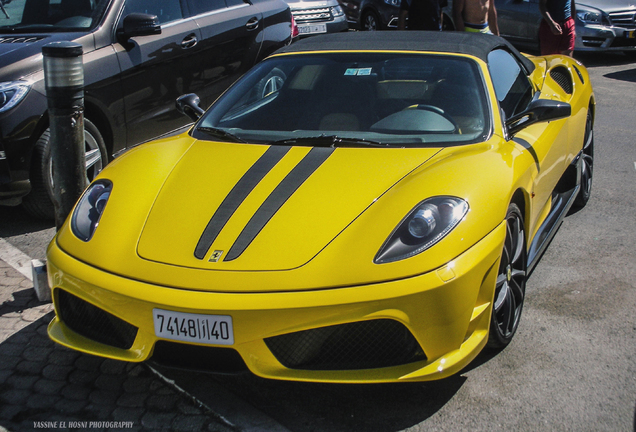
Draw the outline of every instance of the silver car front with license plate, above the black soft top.
M337 0L286 0L300 37L349 29Z

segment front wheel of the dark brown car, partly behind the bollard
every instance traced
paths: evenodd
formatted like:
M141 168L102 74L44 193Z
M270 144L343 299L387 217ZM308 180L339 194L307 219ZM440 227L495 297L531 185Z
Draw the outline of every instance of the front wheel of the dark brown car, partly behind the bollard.
M102 134L90 120L84 119L86 146L86 176L92 181L108 163L108 153ZM55 219L53 170L51 167L51 132L47 128L35 142L31 156L31 192L22 199L22 207L38 219Z

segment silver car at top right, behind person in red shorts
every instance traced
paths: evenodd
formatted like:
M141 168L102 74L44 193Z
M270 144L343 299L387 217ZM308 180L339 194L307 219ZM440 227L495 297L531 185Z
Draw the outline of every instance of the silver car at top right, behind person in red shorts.
M520 48L538 50L539 0L495 0L499 33ZM636 52L634 0L576 2L575 51Z

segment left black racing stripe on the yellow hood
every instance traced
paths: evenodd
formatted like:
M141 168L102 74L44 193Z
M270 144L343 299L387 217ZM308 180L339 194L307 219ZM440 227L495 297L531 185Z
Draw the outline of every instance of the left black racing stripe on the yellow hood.
M194 250L194 256L198 259L205 258L205 255L216 240L225 224L232 217L236 209L245 201L245 198L252 192L256 185L276 166L278 162L287 154L291 147L271 146L267 151L250 167L249 170L234 185L230 193L225 197L219 208L205 227L199 243Z

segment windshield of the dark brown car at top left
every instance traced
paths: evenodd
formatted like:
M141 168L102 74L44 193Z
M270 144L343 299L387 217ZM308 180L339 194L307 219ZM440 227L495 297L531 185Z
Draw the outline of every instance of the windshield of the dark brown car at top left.
M109 0L0 0L0 33L85 31Z

